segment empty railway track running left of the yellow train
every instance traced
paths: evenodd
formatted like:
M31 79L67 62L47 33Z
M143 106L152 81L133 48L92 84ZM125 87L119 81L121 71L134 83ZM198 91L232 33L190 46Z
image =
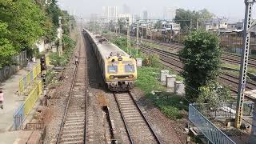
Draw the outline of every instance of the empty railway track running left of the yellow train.
M81 40L82 41L82 40ZM79 64L75 68L70 94L56 143L86 142L87 70L86 50L80 43Z

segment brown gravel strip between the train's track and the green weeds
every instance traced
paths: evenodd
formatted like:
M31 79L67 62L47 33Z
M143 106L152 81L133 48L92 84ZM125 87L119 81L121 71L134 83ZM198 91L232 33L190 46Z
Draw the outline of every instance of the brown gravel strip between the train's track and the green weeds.
M186 134L183 130L186 126L186 119L176 122L170 118L166 118L152 102L145 98L142 90L134 88L132 91L136 94L135 99L138 105L142 108L143 113L153 126L156 134L162 140L162 143L186 143Z

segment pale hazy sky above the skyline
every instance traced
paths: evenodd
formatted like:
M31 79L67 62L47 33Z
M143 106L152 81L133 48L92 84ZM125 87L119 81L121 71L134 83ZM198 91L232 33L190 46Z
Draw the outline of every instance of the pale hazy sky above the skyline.
M89 16L91 13L101 14L102 6L130 6L132 13L141 14L147 10L152 16L161 17L165 6L201 10L206 8L210 12L225 16L230 20L244 17L244 0L58 0L62 9L69 10L79 16ZM256 15L256 7L255 15Z

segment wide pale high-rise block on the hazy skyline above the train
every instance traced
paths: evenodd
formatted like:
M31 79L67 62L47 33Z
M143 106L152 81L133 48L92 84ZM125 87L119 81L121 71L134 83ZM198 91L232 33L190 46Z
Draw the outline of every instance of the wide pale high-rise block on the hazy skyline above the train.
M119 11L118 6L102 6L102 17L106 19L105 22L117 22Z

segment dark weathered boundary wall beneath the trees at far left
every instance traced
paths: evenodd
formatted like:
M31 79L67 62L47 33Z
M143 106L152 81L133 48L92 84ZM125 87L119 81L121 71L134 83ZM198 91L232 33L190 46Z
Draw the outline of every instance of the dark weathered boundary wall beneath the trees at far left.
M26 51L22 51L17 56L14 56L12 59L14 62L17 62L17 65L3 67L2 70L0 70L0 82L10 78L10 76L18 72L18 70L22 69L22 67L26 66L26 58Z

